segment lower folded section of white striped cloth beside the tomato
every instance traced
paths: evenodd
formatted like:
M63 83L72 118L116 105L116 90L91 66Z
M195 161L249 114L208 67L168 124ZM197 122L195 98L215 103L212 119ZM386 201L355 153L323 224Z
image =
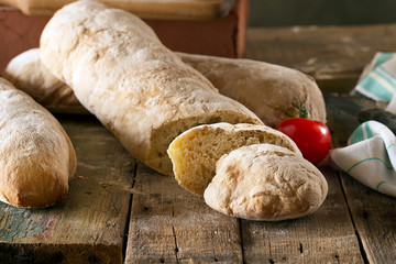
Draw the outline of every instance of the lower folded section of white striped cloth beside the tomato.
M396 136L386 125L362 123L348 146L330 151L330 158L360 183L396 197Z

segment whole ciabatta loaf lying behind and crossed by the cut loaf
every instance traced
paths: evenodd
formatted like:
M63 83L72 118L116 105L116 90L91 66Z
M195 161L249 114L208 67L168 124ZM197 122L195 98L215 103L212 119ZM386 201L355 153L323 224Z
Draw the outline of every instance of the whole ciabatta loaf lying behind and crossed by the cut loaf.
M285 112L298 116L296 106L300 105L306 107L308 119L326 122L320 89L298 70L252 59L175 54L207 77L220 94L243 103L270 127L285 119ZM38 48L14 57L3 76L50 111L87 113L72 88L42 65Z

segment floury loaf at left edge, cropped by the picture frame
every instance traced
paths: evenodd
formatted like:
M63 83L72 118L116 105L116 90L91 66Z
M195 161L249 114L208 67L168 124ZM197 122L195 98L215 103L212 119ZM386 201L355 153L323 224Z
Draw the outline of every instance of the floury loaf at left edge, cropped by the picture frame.
M62 201L76 170L74 147L57 120L0 78L0 200L42 208Z

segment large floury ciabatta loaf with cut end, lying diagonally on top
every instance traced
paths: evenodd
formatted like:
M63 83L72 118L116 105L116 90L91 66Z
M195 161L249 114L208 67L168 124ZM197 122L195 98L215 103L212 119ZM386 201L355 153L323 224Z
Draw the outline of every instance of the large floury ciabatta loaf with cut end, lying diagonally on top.
M202 123L262 123L221 96L167 50L142 20L94 1L77 1L46 24L40 56L138 160L172 175L166 154L182 132Z

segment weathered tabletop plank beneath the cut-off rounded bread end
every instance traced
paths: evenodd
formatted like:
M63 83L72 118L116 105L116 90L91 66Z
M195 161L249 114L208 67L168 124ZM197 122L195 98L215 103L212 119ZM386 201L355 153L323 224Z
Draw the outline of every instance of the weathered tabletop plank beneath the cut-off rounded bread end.
M363 263L337 173L321 168L329 184L314 215L280 222L242 221L245 263Z

